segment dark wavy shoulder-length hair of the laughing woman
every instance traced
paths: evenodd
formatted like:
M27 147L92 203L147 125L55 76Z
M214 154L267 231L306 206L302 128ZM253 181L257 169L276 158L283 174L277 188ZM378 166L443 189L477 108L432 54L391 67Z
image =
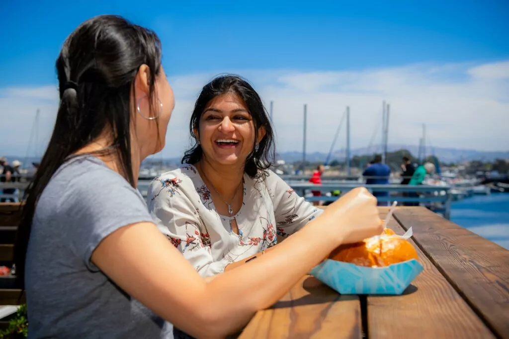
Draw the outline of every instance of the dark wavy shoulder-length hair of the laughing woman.
M207 104L215 97L227 93L236 94L244 101L253 119L254 140L258 139L258 129L262 126L265 127L265 137L260 141L258 147L253 144L244 165L244 172L254 178L260 171L266 172L272 166L275 158L274 132L262 99L247 80L238 75L218 76L203 87L194 104L189 122L189 132L194 145L184 153L182 163L194 165L202 159L203 149L194 136L194 129L200 130L200 118Z

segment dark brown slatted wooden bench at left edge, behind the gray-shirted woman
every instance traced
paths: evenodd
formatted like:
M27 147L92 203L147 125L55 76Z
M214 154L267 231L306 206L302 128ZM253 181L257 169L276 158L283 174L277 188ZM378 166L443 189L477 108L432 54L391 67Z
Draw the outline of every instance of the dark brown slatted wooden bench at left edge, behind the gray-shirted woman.
M19 203L0 203L0 266L12 267L14 240L21 220ZM24 292L13 284L12 278L0 277L0 307L25 303ZM7 322L0 319L0 329Z

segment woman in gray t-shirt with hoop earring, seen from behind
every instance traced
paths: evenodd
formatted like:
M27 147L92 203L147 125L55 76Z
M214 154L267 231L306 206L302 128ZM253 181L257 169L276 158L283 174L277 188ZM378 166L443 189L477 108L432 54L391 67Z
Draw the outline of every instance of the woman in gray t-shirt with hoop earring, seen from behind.
M263 258L206 281L136 190L174 107L157 36L92 18L64 42L56 70L60 106L15 245L31 338L171 337L169 323L225 336L337 245L381 232L375 199L355 190Z

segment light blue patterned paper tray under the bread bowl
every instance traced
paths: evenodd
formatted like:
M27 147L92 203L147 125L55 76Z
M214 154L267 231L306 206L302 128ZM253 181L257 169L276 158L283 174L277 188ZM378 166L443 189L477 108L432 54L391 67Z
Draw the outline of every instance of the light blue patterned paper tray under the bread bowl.
M415 259L386 267L362 267L327 259L310 272L341 294L402 294L423 270Z

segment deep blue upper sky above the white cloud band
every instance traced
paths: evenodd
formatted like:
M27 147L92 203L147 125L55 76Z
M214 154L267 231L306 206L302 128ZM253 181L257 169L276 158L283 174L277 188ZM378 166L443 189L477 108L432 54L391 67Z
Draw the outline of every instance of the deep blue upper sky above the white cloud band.
M353 4L355 3L355 4ZM391 5L386 5L390 3ZM66 36L115 13L155 29L168 74L344 70L509 56L509 2L5 1L0 86L47 84Z

